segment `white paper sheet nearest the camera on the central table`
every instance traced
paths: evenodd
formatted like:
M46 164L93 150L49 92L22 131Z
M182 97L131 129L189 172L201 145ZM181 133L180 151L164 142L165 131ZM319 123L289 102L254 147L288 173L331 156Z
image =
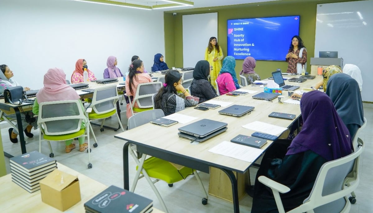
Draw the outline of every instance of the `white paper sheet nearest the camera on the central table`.
M254 162L254 160L257 159L261 155L261 153L263 153L263 151L263 149L258 149L228 141L223 141L222 143L217 144L209 150L209 152L215 154L244 160L246 162Z

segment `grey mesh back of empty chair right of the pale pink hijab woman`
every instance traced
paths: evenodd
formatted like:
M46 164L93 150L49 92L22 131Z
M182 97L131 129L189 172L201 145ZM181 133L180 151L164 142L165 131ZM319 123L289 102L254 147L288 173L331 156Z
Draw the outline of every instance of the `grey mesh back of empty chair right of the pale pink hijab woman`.
M97 114L104 114L116 109L116 102L119 100L116 85L105 86L95 89L91 108Z

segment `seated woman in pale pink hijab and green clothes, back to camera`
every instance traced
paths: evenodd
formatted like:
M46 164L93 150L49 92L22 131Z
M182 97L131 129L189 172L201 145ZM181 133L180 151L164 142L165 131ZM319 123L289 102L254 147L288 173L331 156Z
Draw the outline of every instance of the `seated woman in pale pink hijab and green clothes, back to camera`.
M80 96L76 91L66 85L66 74L62 69L51 68L44 75L44 87L36 94L34 107L32 112L39 114L39 104L50 101L68 101L79 100ZM83 105L81 107L84 109ZM82 122L81 129L85 128L85 123ZM88 143L84 143L85 137L79 137L79 151L84 152L88 148ZM72 140L66 140L66 153L71 152L75 148Z

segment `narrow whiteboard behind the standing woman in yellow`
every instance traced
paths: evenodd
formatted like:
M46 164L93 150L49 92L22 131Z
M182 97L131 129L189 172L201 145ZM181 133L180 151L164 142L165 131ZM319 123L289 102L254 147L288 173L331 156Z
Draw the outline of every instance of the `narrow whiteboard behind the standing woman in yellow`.
M217 13L183 15L184 67L195 67L204 60L210 37L217 38Z

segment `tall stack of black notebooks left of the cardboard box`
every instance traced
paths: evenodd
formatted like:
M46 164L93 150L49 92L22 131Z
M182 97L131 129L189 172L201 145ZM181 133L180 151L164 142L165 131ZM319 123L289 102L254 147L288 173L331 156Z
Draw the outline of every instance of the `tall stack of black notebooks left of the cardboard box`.
M40 190L39 182L56 168L56 160L37 151L10 158L12 181L29 193Z

